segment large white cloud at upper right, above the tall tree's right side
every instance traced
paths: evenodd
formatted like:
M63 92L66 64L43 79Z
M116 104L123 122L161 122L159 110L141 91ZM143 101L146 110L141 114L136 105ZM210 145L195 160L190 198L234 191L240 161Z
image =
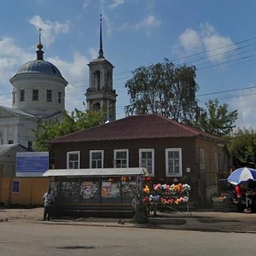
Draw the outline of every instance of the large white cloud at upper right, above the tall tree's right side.
M221 36L214 26L209 23L201 23L198 31L195 29L186 29L178 38L178 45L174 49L176 53L181 52L186 55L195 52L206 51L207 57L213 62L222 62L231 51L236 49L230 37Z

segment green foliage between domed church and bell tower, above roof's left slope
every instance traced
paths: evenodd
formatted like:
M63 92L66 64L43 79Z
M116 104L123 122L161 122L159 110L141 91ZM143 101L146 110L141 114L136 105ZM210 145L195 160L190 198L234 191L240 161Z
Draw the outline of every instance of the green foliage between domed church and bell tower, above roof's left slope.
M102 111L83 112L77 108L73 110L71 115L67 112L63 113L61 121L39 121L38 128L33 131L35 136L34 148L38 151L49 151L49 140L103 123L104 114Z

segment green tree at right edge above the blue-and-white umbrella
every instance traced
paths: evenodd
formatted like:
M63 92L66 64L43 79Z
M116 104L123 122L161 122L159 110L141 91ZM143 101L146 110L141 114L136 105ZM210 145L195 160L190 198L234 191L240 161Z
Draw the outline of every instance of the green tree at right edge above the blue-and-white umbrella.
M228 144L233 166L251 166L255 168L256 160L256 133L251 130L238 130L230 137Z

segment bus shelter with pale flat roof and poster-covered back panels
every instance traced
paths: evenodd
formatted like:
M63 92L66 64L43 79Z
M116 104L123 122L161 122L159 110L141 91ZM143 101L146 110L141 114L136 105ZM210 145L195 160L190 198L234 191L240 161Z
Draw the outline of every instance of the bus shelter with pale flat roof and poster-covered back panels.
M43 177L50 177L57 215L128 218L138 214L132 200L143 204L145 175L146 168L100 168L51 169Z

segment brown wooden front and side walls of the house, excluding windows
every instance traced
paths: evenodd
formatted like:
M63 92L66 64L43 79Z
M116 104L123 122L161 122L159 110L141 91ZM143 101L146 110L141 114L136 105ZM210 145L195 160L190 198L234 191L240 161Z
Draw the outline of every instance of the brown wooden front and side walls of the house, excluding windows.
M211 202L212 193L218 191L218 175L213 154L225 156L225 148L218 143L198 137L155 138L86 143L55 144L55 168L67 168L67 152L80 151L80 168L90 168L90 150L104 150L103 167L113 167L113 150L129 149L129 167L139 166L139 148L154 148L154 177L166 177L166 148L182 148L183 178L192 187L191 196L202 206ZM205 150L205 172L200 172L199 148ZM224 157L225 158L225 157ZM190 170L190 172L186 172ZM172 180L173 177L170 178Z

